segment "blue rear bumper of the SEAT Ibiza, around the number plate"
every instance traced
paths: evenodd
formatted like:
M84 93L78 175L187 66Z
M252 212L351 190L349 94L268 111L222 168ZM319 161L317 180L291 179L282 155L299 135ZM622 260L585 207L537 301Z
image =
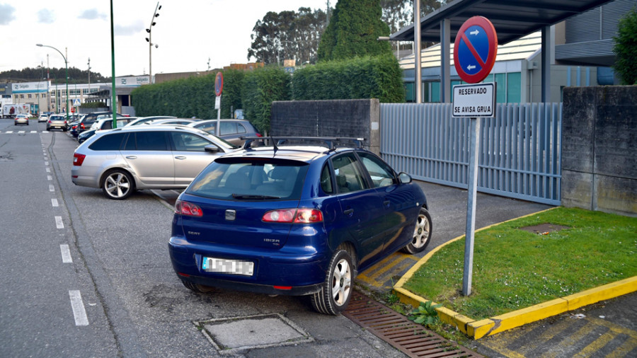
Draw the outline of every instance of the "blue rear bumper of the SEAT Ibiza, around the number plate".
M228 248L210 243L190 243L180 236L168 242L173 269L185 281L212 287L224 287L260 294L300 296L321 289L329 258L321 253L297 255L272 250L264 253L246 248ZM204 257L254 262L251 276L207 272L202 269Z

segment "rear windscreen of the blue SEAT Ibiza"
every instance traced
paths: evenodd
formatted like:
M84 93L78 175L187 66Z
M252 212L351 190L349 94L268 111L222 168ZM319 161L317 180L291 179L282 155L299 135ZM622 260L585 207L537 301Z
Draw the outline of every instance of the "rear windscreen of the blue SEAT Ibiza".
M186 190L222 200L298 200L307 163L258 158L219 158Z

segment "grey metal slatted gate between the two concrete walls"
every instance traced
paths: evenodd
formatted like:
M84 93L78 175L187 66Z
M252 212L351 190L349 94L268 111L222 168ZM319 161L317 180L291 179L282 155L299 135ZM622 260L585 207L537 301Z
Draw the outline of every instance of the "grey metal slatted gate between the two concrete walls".
M498 104L480 119L478 191L560 204L561 103ZM469 119L451 103L382 103L381 156L397 171L467 187Z

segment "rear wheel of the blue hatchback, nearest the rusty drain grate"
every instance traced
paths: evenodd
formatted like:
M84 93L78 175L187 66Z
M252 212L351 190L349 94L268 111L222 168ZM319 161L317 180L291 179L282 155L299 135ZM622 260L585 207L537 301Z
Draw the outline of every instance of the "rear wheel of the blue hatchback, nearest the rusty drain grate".
M347 250L336 250L321 284L321 291L311 296L312 306L319 313L338 315L350 303L354 284L354 265Z

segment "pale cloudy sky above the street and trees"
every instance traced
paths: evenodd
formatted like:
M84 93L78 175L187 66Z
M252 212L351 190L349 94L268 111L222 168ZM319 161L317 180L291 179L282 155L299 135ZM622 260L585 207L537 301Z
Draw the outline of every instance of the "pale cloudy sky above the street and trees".
M332 7L336 0L331 0ZM115 76L148 74L144 40L156 0L113 0ZM205 71L248 62L250 35L268 11L326 8L326 0L163 0L152 28L153 74ZM0 0L0 71L69 67L111 74L110 1ZM253 61L253 59L251 59ZM87 79L88 81L88 79Z

